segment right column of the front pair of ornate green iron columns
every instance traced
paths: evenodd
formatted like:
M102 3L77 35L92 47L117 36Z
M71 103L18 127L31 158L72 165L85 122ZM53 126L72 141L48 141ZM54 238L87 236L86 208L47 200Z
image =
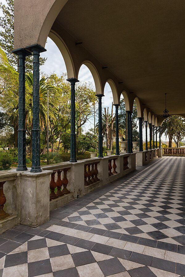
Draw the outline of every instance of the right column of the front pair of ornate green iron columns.
M42 46L35 44L26 47L33 53L33 128L32 128L32 166L30 172L41 172L40 167L40 128L39 128L39 57L46 51Z

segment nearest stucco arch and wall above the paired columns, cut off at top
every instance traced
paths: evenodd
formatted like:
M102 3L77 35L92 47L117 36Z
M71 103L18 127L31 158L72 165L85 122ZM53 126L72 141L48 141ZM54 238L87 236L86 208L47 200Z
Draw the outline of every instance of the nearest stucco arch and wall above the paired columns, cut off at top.
M44 5L42 1L36 0L31 4L30 0L14 1L14 49L36 43L44 47L49 31L67 1L45 1ZM32 16L30 16L30 10ZM30 26L34 30L32 35L29 35Z

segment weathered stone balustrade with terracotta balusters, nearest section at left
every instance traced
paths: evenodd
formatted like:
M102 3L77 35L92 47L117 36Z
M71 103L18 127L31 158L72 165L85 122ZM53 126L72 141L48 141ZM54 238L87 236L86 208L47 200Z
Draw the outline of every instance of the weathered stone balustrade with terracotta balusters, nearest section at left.
M135 170L136 153L0 171L0 233L17 224L37 227L49 211Z

